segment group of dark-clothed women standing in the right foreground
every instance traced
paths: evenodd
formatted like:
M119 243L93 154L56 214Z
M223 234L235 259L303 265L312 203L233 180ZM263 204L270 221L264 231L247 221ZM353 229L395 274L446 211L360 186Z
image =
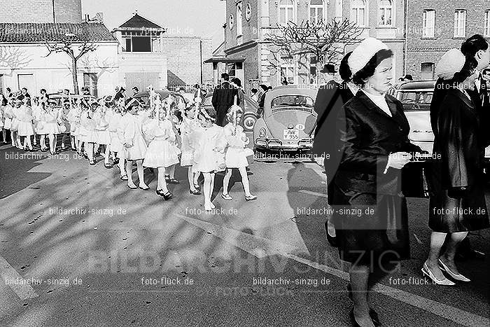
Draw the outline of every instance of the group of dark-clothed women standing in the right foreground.
M484 197L490 102L485 78L479 74L486 73L489 62L489 43L476 34L461 49L445 53L435 70L439 79L430 104L435 157L425 164L432 232L428 258L421 263L421 276L435 285L470 281L458 270L458 252L465 260L484 258L484 253L471 249L467 236L490 226ZM347 292L353 300L353 326L381 326L370 307L370 289L410 254L402 191L416 179L406 180L402 172L425 151L408 138L401 102L387 95L393 84L392 67L388 46L367 38L342 59L342 83L333 80L335 69L325 67L330 78L314 103L318 115L314 152L330 154L323 165L328 204L335 208L325 229L340 258L351 263ZM403 81L411 77L404 76ZM372 214L359 215L366 208L372 208L368 211Z

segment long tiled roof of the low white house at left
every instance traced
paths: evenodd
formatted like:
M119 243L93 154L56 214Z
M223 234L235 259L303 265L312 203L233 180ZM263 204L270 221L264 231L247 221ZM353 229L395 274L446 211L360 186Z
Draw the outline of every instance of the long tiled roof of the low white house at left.
M117 41L102 23L0 23L0 43Z

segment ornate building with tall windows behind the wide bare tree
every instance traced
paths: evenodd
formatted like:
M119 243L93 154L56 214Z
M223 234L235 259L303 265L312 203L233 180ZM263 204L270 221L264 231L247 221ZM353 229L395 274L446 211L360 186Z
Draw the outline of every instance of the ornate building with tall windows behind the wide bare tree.
M223 0L222 0L223 1ZM405 1L404 0L224 0L226 18L224 26L225 57L216 56L215 71L226 64L230 75L244 81L247 90L259 83L279 85L283 79L289 83L310 83L316 75L316 60L308 58L307 69L297 64L297 58L279 58L279 67L271 69L274 61L265 41L267 34L277 32L277 24L293 20L349 18L363 27L359 39L367 36L384 41L395 53L393 76L404 73ZM345 46L345 52L353 48ZM334 63L337 67L339 62ZM216 76L216 72L215 72Z

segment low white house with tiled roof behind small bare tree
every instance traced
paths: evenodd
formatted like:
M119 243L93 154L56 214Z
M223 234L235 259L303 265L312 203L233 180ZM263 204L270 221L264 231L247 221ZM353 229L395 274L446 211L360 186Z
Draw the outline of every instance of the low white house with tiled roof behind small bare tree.
M71 58L51 53L45 43L69 42L75 55L78 47L97 47L78 60L78 88L90 87L92 95L111 95L119 85L118 40L102 22L0 23L0 91L27 88L31 96L41 88L48 93L67 88L73 92Z

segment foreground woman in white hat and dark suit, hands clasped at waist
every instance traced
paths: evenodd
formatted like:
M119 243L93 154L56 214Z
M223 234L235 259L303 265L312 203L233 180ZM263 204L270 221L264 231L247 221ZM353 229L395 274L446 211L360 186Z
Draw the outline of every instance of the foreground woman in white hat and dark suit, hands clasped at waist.
M352 81L360 86L344 105L340 123L342 159L334 179L333 216L342 260L352 263L349 296L354 326L379 326L367 294L393 262L409 257L407 204L401 169L410 153L421 152L408 139L402 104L386 95L393 78L393 53L368 38L349 57Z

